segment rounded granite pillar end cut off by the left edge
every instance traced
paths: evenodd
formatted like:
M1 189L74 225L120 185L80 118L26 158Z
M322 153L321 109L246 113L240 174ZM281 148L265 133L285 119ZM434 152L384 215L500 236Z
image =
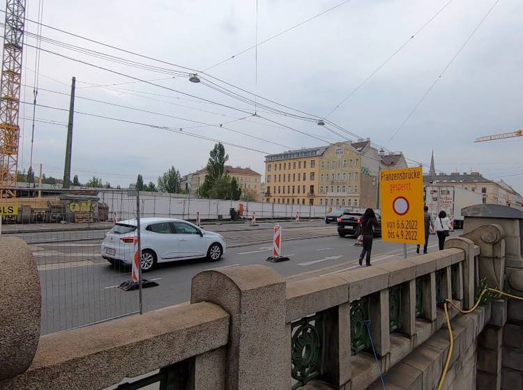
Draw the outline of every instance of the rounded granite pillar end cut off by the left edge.
M0 380L23 373L40 338L40 279L20 238L0 238Z

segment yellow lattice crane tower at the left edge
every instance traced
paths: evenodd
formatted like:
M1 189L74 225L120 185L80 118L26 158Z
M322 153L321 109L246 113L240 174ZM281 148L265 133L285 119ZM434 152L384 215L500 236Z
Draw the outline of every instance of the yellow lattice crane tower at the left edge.
M0 198L14 198L18 170L20 81L24 44L25 0L6 1L0 79Z

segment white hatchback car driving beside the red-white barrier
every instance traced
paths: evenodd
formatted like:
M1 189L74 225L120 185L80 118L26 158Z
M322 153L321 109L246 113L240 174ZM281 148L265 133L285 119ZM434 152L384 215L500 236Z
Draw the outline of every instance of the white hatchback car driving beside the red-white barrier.
M137 221L119 221L105 234L102 257L109 263L132 264L135 256ZM207 257L220 260L227 249L222 235L205 231L188 221L174 218L140 219L142 271L152 270L157 263Z

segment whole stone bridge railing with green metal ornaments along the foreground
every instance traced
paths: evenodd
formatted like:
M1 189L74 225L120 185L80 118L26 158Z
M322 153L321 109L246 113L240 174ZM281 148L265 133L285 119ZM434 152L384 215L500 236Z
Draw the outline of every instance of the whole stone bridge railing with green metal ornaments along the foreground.
M467 236L437 253L301 281L262 265L207 270L192 279L190 303L39 339L38 283L23 283L31 253L1 239L0 269L10 263L6 276L20 283L0 296L0 389L379 389L380 370L390 389L434 389L449 349L441 303L470 309L481 279L503 288L503 229ZM24 258L22 274L12 258ZM505 302L450 317L446 389L472 388L463 383L476 368L499 381L487 352L501 356L501 342L484 335L487 324L503 327Z

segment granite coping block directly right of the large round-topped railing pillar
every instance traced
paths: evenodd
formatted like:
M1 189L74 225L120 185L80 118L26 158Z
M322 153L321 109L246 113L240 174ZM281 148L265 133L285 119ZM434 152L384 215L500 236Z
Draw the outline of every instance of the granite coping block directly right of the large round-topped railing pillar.
M287 283L287 315L291 322L349 301L349 284L335 275Z

